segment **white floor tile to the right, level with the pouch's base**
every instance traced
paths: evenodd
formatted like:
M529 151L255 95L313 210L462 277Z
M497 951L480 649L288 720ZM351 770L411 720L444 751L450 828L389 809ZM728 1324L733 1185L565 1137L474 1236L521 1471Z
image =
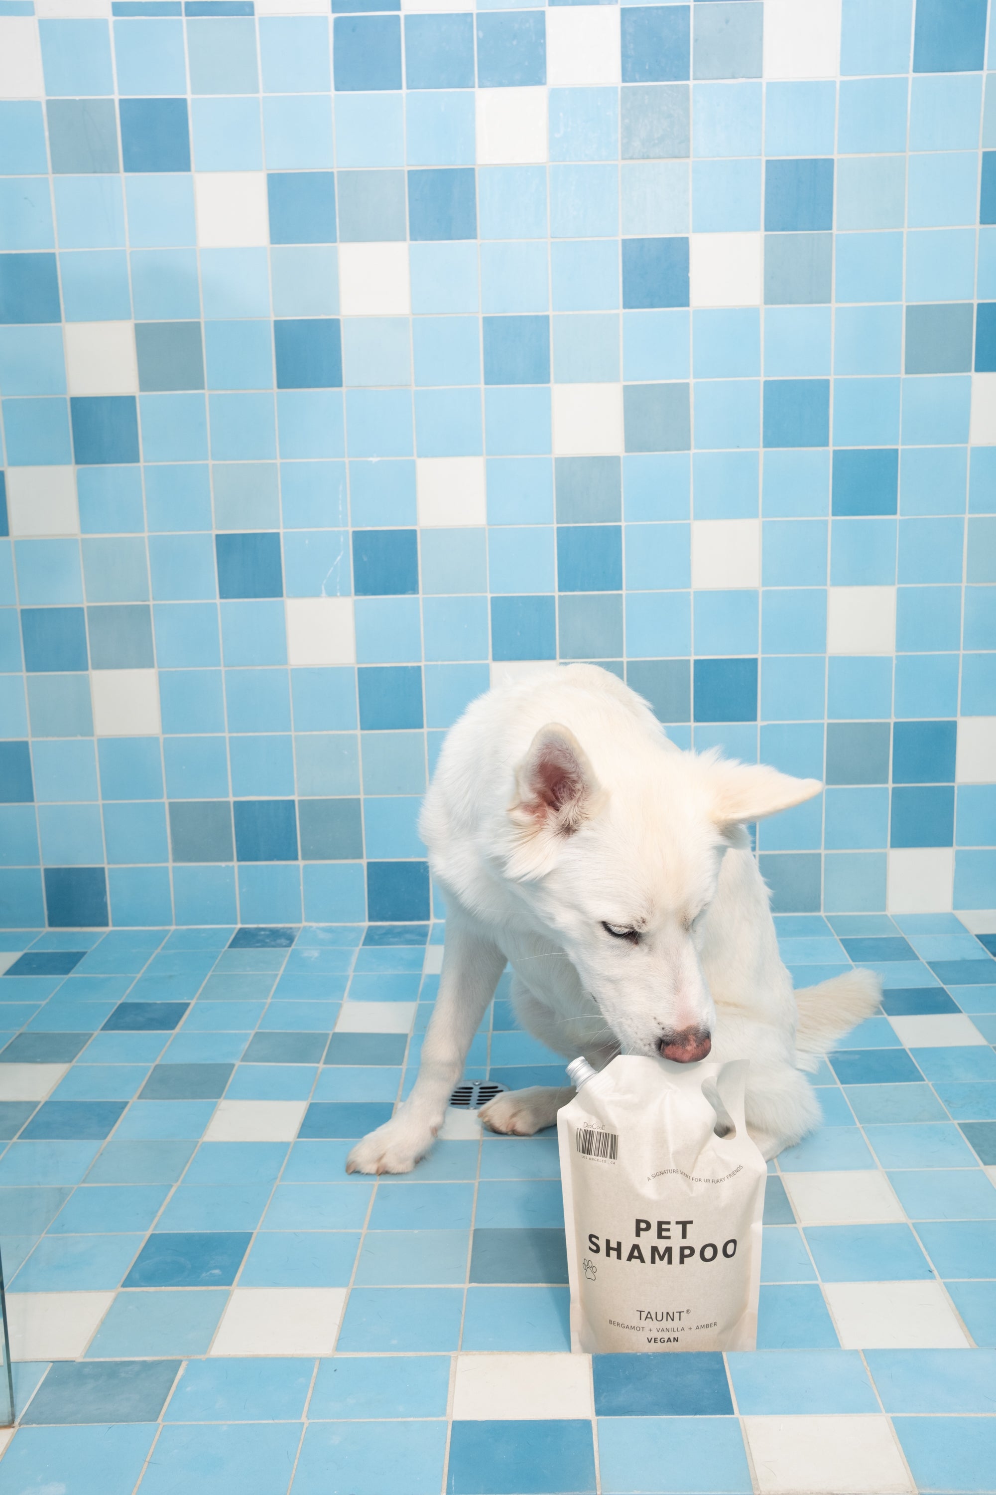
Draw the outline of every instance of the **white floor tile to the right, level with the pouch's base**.
M965 1350L941 1283L824 1283L845 1350Z

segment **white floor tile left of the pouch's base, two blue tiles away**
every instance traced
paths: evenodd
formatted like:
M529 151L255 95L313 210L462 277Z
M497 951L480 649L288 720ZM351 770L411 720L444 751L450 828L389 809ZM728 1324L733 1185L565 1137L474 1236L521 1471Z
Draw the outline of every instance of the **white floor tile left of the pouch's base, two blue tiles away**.
M211 1354L332 1354L345 1287L236 1287Z

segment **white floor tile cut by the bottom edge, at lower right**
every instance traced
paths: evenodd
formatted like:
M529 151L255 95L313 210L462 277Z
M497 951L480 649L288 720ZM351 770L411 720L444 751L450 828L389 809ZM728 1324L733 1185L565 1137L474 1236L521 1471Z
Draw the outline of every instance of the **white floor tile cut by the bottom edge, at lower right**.
M912 1491L887 1417L744 1417L760 1495Z

